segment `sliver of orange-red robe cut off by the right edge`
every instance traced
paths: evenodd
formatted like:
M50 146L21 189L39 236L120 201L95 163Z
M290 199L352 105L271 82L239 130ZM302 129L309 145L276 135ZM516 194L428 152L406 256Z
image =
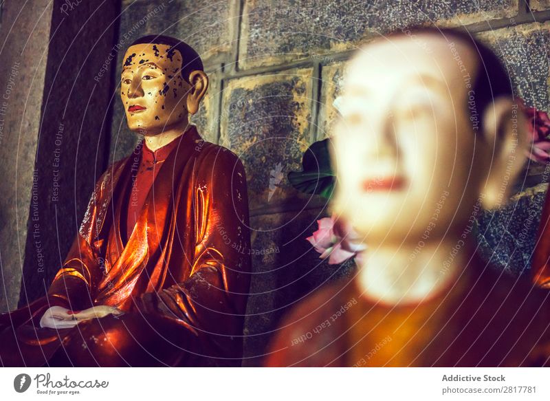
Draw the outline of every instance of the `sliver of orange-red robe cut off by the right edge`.
M534 283L542 288L550 288L550 193L547 193L542 207L531 272Z

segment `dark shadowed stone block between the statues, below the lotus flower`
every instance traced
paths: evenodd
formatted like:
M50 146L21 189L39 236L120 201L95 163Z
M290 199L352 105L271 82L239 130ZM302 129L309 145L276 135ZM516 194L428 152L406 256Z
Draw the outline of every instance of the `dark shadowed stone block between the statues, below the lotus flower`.
M329 265L306 240L322 209L252 217L254 274L245 318L243 366L260 366L281 317L322 285L351 277L353 260Z

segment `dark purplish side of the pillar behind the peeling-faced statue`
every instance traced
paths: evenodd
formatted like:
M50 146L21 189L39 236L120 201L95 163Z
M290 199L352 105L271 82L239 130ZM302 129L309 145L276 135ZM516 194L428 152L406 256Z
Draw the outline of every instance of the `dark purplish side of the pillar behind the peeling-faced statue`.
M108 164L115 3L53 1L19 306L43 296Z

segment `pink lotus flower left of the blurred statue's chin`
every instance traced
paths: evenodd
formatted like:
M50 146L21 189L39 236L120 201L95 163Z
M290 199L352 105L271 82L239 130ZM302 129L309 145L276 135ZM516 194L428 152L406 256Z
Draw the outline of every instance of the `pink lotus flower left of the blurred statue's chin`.
M338 264L354 257L366 249L350 224L334 216L317 220L318 230L307 237L307 241L321 254L320 259L329 258L329 264Z

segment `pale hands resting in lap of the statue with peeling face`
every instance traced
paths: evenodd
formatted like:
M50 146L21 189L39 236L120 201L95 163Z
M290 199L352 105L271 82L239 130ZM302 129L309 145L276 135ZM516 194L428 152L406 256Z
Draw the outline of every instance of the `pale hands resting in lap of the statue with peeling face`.
M117 307L99 305L90 307L74 313L72 310L61 306L52 306L43 314L40 319L40 327L50 327L51 329L69 329L83 321L89 321L94 318L102 318L109 314L120 316L124 314Z

